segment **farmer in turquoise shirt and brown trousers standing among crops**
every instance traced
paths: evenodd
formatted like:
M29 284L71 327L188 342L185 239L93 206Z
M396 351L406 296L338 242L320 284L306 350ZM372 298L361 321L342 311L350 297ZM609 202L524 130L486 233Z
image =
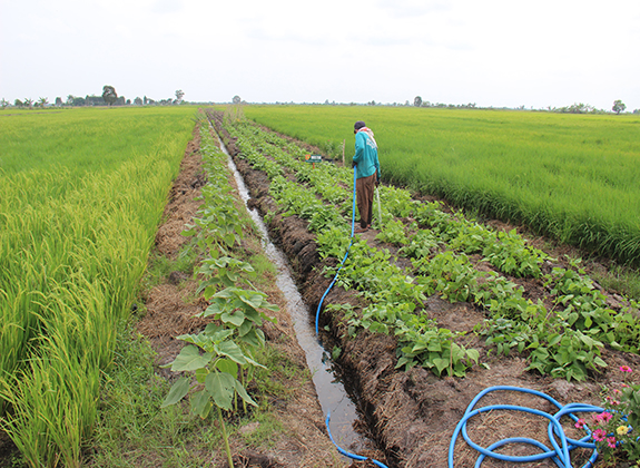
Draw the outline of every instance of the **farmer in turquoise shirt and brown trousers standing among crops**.
M355 134L355 155L353 167L356 169L356 202L360 212L360 228L356 233L364 233L371 227L373 209L373 192L380 184L380 162L377 160L377 143L373 131L364 121L358 120L353 127Z

